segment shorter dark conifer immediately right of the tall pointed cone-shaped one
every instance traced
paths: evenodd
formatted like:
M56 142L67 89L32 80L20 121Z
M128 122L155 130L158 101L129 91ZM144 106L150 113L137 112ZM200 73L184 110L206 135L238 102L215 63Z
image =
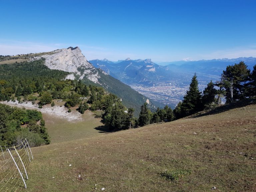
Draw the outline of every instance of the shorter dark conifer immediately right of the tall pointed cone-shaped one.
M214 84L212 81L207 84L207 87L204 89L202 96L202 104L204 107L215 101L215 95L217 93L216 91L217 90L214 88Z

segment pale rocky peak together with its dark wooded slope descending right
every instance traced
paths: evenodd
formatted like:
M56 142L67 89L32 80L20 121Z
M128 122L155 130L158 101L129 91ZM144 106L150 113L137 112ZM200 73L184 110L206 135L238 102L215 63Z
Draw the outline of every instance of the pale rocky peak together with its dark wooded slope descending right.
M135 108L134 114L137 117L140 112L140 106L148 99L104 71L96 69L86 60L79 47L57 49L31 57L30 60L39 60L42 57L45 58L45 65L50 69L70 72L71 74L66 77L67 79L80 79L86 84L97 84L104 87L110 93L122 98L122 102L126 107ZM150 100L151 110L163 106L163 104L151 102Z

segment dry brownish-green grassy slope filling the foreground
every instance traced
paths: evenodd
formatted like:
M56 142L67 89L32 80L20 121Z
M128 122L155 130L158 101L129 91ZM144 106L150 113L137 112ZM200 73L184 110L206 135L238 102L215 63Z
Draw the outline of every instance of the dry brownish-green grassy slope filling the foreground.
M84 139L64 128L32 148L26 191L255 191L256 105L240 104Z

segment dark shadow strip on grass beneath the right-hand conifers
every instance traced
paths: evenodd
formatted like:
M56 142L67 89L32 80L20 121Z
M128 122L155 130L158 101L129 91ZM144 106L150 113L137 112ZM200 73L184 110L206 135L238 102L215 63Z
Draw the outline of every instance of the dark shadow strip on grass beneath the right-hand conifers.
M206 116L206 115L214 115L214 114L218 114L218 113L228 111L230 109L235 109L235 108L238 108L238 107L245 107L245 106L251 105L251 104L256 104L256 98L245 99L245 100L242 100L242 101L233 102L233 103L230 103L230 104L227 104L227 105L219 106L219 107L216 107L216 108L214 108L212 110L209 110L209 111L199 112L199 113L193 115L192 118L203 117L203 116Z

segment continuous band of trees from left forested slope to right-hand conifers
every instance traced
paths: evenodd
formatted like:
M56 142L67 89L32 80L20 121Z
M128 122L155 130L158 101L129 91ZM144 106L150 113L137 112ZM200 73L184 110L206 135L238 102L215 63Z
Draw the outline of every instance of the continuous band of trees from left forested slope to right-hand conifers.
M0 100L26 102L39 100L39 108L46 104L54 106L54 99L62 99L68 112L77 107L80 113L90 109L101 117L110 130L128 129L151 123L167 122L182 118L205 108L211 108L225 97L226 102L241 100L256 95L256 65L252 72L244 62L227 66L221 79L208 83L200 92L196 74L183 101L172 110L165 106L151 112L148 104L141 106L139 118L134 109L126 108L121 99L107 93L102 87L86 85L79 80L65 80L68 72L51 70L44 60L0 66ZM218 87L216 89L215 87Z

